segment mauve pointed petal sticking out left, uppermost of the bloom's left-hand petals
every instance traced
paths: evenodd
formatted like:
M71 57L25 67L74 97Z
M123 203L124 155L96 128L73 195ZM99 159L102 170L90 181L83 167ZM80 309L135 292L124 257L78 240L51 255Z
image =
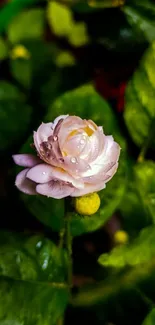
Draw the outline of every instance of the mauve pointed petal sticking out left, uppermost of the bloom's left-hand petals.
M12 158L16 165L23 167L33 167L41 163L41 160L38 157L31 154L13 155Z

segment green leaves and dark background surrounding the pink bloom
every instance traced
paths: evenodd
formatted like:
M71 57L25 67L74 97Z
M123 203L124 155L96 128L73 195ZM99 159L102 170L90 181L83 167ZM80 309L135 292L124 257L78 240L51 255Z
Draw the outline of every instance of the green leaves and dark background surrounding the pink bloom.
M0 324L152 325L154 1L0 6ZM93 119L122 148L99 212L79 216L69 202L72 297L64 201L19 193L11 157L30 152L33 130L61 113Z

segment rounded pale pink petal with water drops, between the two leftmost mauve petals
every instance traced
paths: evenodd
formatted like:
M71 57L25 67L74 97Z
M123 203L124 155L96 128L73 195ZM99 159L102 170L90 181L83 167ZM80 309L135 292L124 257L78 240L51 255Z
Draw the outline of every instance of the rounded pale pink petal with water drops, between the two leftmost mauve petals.
M52 167L47 164L39 164L29 169L27 177L36 183L47 183L52 179Z

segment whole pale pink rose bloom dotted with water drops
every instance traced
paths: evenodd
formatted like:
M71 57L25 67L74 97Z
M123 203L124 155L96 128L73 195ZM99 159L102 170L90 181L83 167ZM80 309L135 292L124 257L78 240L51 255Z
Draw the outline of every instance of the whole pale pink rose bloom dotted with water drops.
M42 123L33 139L37 155L13 156L26 167L15 182L24 193L83 196L104 189L117 170L120 146L91 120L61 115Z

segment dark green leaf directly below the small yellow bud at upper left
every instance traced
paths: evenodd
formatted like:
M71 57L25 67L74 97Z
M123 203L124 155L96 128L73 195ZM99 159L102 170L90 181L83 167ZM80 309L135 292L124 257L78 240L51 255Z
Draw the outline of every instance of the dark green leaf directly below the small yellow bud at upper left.
M12 76L25 88L31 87L32 64L29 59L10 60L10 70Z

